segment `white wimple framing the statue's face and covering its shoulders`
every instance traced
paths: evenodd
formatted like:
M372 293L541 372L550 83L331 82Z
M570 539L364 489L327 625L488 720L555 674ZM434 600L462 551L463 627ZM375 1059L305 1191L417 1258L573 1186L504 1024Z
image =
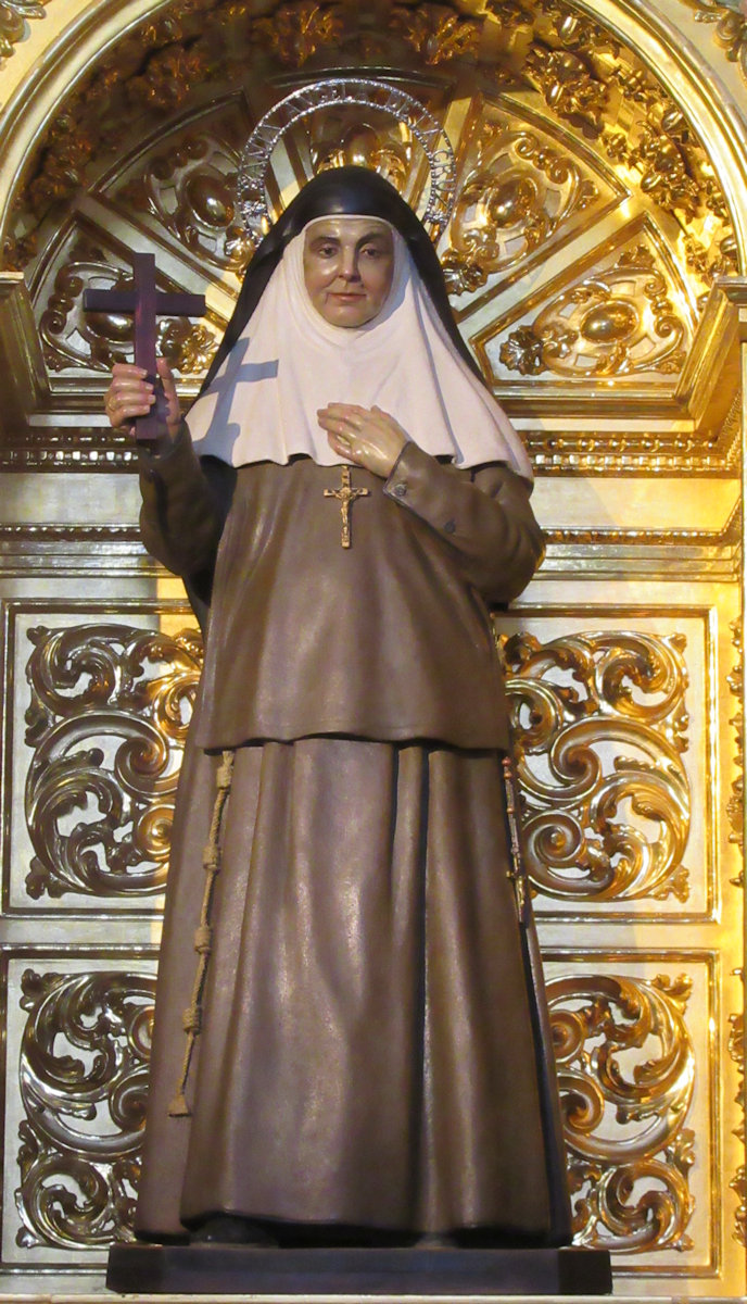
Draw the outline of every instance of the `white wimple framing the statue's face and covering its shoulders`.
M385 306L348 329L325 321L309 299L308 230L286 248L242 334L188 413L197 452L235 467L287 463L296 454L335 466L342 459L317 411L377 404L426 452L458 467L505 462L531 480L519 436L448 339L399 232L391 228L395 265Z

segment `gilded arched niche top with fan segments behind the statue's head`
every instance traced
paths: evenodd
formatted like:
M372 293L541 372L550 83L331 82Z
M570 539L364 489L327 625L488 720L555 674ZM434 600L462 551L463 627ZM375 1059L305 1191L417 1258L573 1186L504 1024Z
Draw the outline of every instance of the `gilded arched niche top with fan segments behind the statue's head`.
M288 90L356 68L420 96L450 136L459 200L441 257L463 331L538 466L648 466L656 412L658 468L727 468L734 382L718 387L703 365L714 348L735 365L713 287L737 271L737 244L713 166L682 106L609 30L514 0L302 0L271 16L189 0L107 50L37 140L5 218L5 266L23 271L40 335L16 400L50 430L26 442L65 460L55 413L74 411L99 451L102 377L126 356L130 325L83 318L82 289L125 283L134 246L156 252L164 284L209 282L203 322L160 327L194 391L252 252L233 200L241 145ZM411 197L426 184L412 136L351 106L283 138L275 207L351 160ZM21 318L23 291L5 287Z

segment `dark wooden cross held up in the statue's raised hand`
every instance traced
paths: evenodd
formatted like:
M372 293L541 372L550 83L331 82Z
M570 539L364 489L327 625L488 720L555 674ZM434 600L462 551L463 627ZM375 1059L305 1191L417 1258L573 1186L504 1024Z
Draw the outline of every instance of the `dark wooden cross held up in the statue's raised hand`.
M155 404L146 416L136 417L137 439L150 442L166 433L166 395L155 369L155 325L158 317L203 317L205 295L166 295L155 288L155 257L133 254L132 289L86 289L87 313L132 313L134 316L134 363L147 372L155 387Z

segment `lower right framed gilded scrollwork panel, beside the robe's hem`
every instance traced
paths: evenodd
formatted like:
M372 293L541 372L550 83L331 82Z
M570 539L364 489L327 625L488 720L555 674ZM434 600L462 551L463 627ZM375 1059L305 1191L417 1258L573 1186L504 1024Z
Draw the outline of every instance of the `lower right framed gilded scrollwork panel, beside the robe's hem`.
M716 1275L717 955L548 949L545 966L575 1243L611 1249L618 1278Z

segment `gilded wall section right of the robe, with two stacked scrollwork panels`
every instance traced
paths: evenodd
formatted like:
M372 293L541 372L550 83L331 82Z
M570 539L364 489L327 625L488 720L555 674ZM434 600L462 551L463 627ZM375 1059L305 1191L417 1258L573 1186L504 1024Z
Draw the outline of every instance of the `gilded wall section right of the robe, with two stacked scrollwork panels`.
M743 1221L738 591L665 584L540 579L497 626L576 1237L705 1291Z

